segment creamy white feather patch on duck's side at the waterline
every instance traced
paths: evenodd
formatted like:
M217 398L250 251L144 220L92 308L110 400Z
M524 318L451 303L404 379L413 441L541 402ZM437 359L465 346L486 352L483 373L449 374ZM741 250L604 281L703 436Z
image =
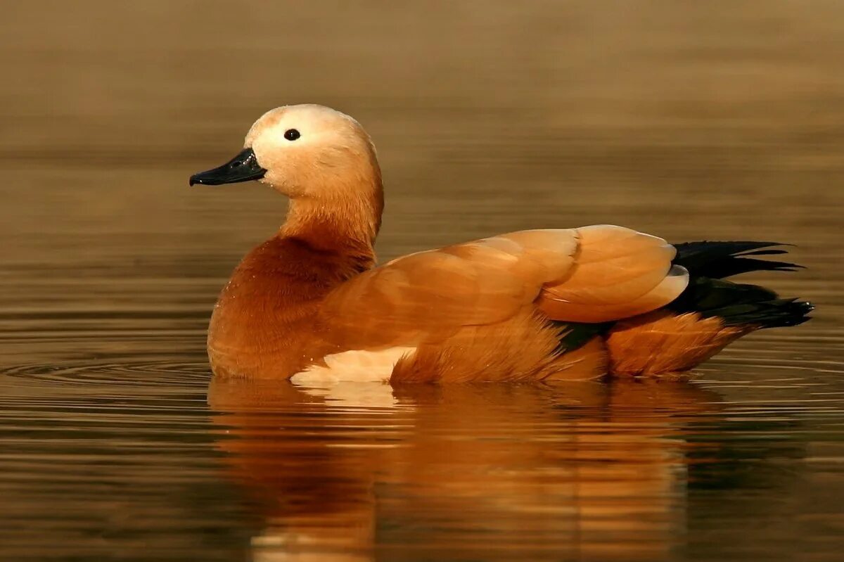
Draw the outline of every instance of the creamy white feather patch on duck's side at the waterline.
M313 386L328 382L389 382L392 368L404 355L413 354L414 347L367 351L353 349L322 358L326 366L311 365L306 370L290 377L296 385Z

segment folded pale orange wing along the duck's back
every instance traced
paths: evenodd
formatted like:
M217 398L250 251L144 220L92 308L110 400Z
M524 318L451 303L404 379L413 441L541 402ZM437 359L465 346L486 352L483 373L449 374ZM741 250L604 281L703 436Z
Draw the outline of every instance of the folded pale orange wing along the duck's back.
M349 347L436 342L535 307L607 322L667 305L688 282L665 240L618 226L523 230L400 257L335 289L322 306Z

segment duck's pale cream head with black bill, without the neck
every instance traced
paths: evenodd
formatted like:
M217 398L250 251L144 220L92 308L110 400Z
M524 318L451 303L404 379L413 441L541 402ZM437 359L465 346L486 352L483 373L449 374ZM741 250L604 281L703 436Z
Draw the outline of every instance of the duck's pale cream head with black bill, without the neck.
M381 192L381 171L369 135L351 117L322 105L268 111L249 129L239 154L218 168L194 174L190 184L250 180L317 203Z

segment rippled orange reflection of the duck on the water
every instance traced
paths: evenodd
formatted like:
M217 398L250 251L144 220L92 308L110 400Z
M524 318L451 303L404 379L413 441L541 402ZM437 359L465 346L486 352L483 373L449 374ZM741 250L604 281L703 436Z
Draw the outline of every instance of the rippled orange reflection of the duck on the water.
M215 381L258 560L668 558L684 526L687 383Z

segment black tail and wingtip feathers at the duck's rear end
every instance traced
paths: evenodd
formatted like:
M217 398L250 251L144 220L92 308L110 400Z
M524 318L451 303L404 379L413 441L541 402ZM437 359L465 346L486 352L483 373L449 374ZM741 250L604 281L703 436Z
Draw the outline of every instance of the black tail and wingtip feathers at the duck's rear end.
M669 308L718 316L728 326L797 326L809 320L814 306L796 299L781 299L774 291L758 285L736 284L723 278L751 271L797 271L791 262L758 259L786 253L776 242L688 242L678 244L674 263L690 274L689 286Z

